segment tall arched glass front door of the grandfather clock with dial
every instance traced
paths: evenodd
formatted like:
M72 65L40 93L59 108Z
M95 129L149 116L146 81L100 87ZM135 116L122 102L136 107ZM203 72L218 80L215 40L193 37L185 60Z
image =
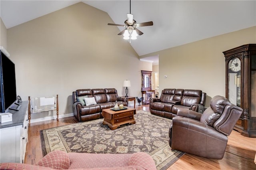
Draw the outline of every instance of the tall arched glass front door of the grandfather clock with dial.
M228 99L234 105L241 105L241 61L238 57L228 63Z

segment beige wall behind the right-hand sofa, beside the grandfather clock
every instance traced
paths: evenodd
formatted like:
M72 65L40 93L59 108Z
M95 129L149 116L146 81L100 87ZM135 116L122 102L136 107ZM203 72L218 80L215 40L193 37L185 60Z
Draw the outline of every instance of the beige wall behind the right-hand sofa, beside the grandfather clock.
M225 58L222 51L256 43L256 27L172 47L140 58L159 55L159 92L165 88L201 89L206 106L216 95L225 96ZM167 75L167 78L164 78Z

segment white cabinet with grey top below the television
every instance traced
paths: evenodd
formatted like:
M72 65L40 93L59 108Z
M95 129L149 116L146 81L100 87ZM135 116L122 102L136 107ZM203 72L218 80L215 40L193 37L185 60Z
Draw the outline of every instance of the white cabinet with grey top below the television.
M23 163L28 140L28 101L19 103L19 111L12 113L12 121L0 123L0 163Z

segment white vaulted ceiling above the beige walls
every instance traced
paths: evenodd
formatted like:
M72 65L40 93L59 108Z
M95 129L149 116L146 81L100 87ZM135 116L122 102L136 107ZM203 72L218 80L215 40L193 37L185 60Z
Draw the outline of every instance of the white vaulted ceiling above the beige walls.
M6 28L11 28L78 2L81 1L1 0L0 14ZM130 12L129 0L82 2L107 12L115 24L123 24ZM154 23L138 28L144 34L131 42L138 55L256 26L255 0L132 0L131 13L137 23Z

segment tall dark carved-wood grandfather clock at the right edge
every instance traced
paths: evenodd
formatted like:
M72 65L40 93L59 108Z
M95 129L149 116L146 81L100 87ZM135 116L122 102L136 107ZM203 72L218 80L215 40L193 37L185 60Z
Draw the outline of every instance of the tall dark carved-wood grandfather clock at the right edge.
M256 44L223 52L226 62L226 98L243 113L234 127L243 136L256 137Z

